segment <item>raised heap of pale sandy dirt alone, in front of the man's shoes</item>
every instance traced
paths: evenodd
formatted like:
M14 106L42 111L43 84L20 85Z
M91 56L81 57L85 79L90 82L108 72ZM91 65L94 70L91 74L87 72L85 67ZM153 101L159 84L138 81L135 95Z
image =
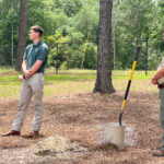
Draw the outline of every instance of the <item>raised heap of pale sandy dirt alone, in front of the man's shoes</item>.
M79 145L78 142L70 142L68 139L52 136L47 139L39 141L36 145L34 145L33 150L35 150L36 155L51 155L58 159L72 159L81 155L89 150L84 147Z

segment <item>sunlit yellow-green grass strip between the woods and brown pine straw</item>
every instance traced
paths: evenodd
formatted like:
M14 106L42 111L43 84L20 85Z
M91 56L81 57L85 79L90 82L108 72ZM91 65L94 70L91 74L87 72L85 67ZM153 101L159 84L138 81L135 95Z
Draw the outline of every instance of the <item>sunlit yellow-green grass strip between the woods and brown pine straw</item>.
M132 79L131 91L157 92L150 83L155 71L136 71ZM130 70L113 71L113 84L116 90L125 91L130 75ZM19 73L12 68L0 68L0 97L19 98L22 82L17 79ZM54 69L48 69L45 77L45 96L62 95L71 93L92 92L96 80L95 70L60 70L55 74Z

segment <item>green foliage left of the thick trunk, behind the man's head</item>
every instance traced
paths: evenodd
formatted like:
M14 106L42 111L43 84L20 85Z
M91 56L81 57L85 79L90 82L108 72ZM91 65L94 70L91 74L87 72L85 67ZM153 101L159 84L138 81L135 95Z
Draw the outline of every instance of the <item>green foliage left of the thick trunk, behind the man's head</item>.
M84 44L90 31L92 42L97 42L97 0L28 0L28 28L38 24L44 28L43 40L49 46L47 66L57 70L80 68ZM20 1L0 1L0 65L11 65L11 27L13 27L14 60L16 58ZM27 37L27 44L31 40ZM57 44L58 43L58 44ZM62 44L72 43L72 44ZM84 66L95 68L96 45L87 48ZM87 57L89 56L89 57ZM89 62L87 62L89 59Z

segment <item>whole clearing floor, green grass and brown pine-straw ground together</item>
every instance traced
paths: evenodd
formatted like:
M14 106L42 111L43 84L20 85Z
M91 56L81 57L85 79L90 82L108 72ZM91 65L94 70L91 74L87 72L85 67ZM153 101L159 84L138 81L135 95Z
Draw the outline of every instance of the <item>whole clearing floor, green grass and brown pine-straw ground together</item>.
M96 71L67 70L54 74L47 70L45 81L45 117L42 136L28 139L32 129L33 102L26 114L21 137L0 137L0 163L50 164L162 164L151 153L161 147L159 120L159 93L144 72L134 72L122 121L137 130L137 145L126 145L117 151L97 144L98 126L118 121L130 71L114 71L116 93L93 94ZM0 71L0 127L11 129L16 114L21 82L17 73ZM52 138L54 137L54 138ZM38 151L49 139L47 149ZM60 144L61 143L61 144ZM65 144L65 145L63 145ZM37 149L37 153L36 150Z

